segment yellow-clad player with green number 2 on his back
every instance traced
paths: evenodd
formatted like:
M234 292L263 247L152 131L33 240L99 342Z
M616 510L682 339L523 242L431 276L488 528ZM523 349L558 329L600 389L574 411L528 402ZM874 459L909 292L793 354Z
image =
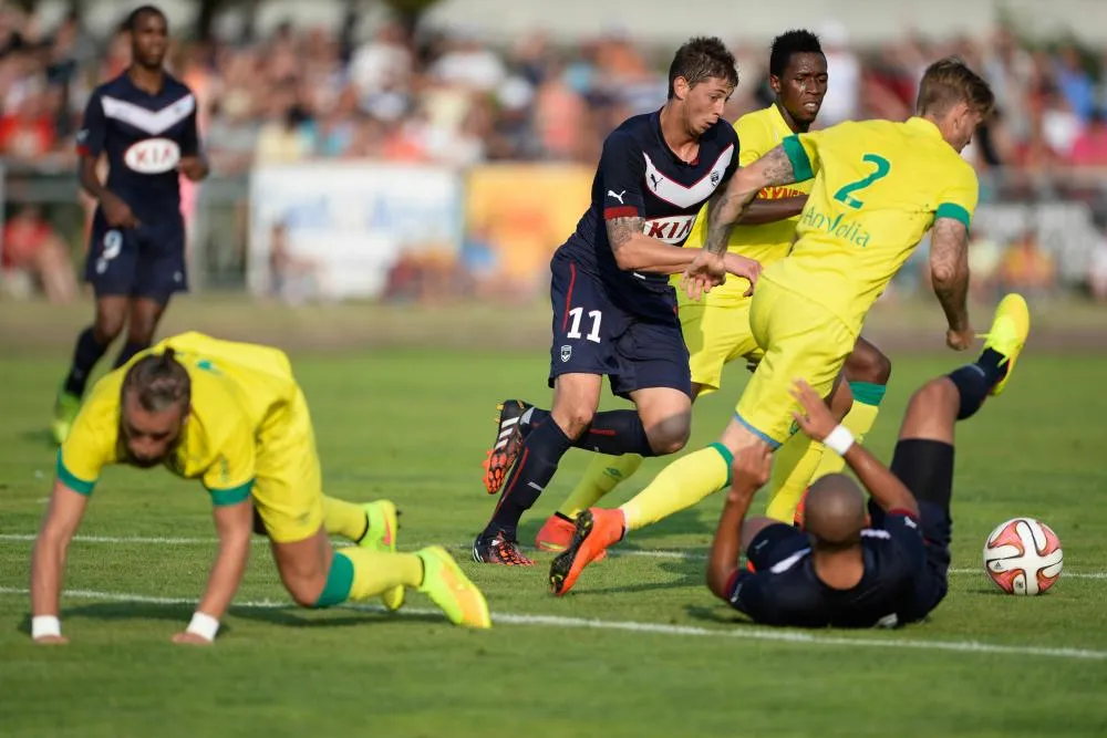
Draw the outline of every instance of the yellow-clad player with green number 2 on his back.
M694 487L705 497L730 484L732 471L742 471L742 459L776 450L798 430L790 395L796 380L827 399L840 420L849 406L841 382L846 357L869 308L928 229L946 343L958 351L970 346L968 232L977 184L960 152L993 102L984 80L958 60L942 60L923 75L917 117L789 136L735 175L710 214L707 246L685 274L692 282L717 278L731 227L761 189L811 177L815 183L792 253L765 270L754 293L749 326L765 356L734 417L717 443L669 465L651 487ZM758 453L737 456L749 447ZM649 493L648 487L642 495ZM572 544L550 567L552 591L569 591L625 531L621 510L582 512Z

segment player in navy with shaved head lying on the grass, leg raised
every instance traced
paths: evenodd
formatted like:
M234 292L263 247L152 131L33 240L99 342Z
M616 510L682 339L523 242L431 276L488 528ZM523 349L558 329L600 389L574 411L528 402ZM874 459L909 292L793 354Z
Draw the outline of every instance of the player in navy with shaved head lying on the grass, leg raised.
M871 496L868 509L857 482L832 474L811 485L805 530L746 520L772 455L764 447L739 451L748 458L718 521L707 564L711 591L766 625L870 627L925 617L948 590L954 426L1003 392L1028 331L1025 301L1008 294L980 358L914 393L890 469L837 424L817 392L797 382L796 422L846 459ZM739 565L743 545L753 572Z

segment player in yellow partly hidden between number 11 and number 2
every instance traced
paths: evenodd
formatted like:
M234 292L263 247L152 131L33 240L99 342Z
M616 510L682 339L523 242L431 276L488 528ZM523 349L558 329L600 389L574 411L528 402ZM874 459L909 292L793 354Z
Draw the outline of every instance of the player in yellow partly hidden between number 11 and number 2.
M773 41L769 86L776 96L774 104L743 115L734 124L741 142L738 162L742 166L749 166L784 138L806 132L815 122L827 91L827 61L818 37L810 31L796 30ZM727 249L756 259L763 269L787 256L811 184L807 180L758 193L749 211L734 228ZM702 246L706 237L707 209L703 208L686 246ZM738 358L751 365L761 361L762 350L749 331L751 298L744 294L747 287L741 279L728 278L699 302L689 300L683 291L677 292L684 342L691 354L693 397L720 388L725 364ZM853 395L853 406L842 423L858 438L863 438L877 419L891 363L876 346L859 337L842 371ZM839 457L824 455L820 444L800 443L806 440L805 436L797 435L780 451L768 503L770 518L790 522L808 480L842 467ZM538 531L535 545L547 551L563 551L572 539L577 516L633 475L641 464L642 457L635 454L594 456L576 489ZM695 505L704 491L683 486L651 486L649 489L650 495L639 495L622 506L630 530Z

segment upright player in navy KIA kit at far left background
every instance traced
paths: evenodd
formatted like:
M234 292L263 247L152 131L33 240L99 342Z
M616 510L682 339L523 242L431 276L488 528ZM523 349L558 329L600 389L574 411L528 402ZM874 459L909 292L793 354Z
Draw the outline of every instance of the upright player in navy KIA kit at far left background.
M163 67L165 13L153 6L127 17L132 63L89 98L77 133L81 187L97 201L85 280L96 295L93 324L77 336L51 426L65 439L93 367L127 326L122 366L149 346L174 292L188 287L180 179L204 179L208 165L196 131L196 97ZM96 174L107 159L107 183Z

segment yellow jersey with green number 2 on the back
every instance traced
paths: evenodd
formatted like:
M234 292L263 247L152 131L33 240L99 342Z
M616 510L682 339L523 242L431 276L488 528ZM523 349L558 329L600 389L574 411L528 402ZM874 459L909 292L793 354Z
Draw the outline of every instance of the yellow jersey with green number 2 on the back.
M814 178L787 259L762 272L859 334L865 315L933 225L976 208L972 166L930 121L847 122L784 139L797 179Z

